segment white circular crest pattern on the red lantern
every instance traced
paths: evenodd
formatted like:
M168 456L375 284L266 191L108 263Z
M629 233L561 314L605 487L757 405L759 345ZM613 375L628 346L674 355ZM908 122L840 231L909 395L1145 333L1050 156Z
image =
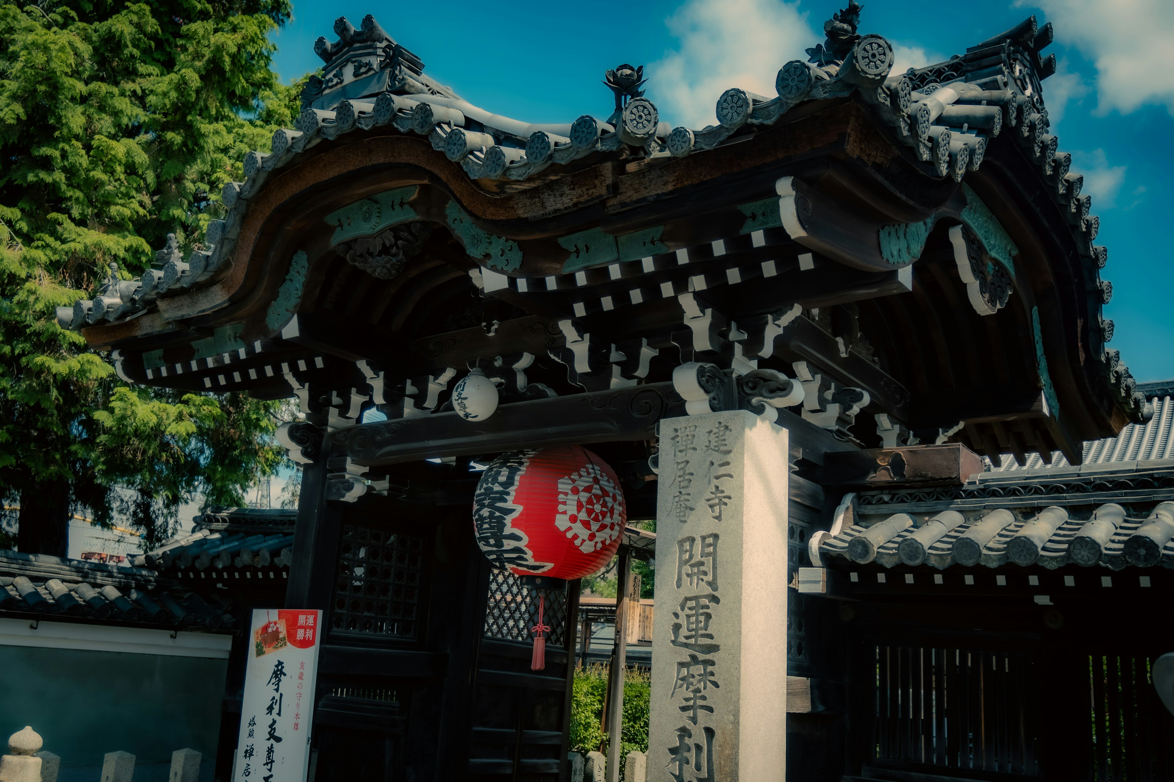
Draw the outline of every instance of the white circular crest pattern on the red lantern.
M595 464L559 478L554 525L583 553L599 551L623 532L623 492Z

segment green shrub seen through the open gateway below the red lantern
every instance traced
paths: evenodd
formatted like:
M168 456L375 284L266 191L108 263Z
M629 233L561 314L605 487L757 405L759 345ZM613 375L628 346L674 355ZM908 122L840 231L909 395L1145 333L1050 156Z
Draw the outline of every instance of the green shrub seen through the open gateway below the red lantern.
M571 748L574 752L587 754L599 750L607 754L607 734L600 727L603 719L603 696L607 693L607 668L608 666L596 662L575 669L571 701ZM633 750L648 752L650 694L650 676L647 672L639 668L625 671L621 757Z

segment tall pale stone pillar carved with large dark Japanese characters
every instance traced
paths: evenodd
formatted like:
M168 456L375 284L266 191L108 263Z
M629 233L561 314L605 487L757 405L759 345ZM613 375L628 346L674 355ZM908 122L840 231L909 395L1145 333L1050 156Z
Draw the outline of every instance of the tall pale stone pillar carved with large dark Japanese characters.
M784 778L787 442L745 410L660 423L648 782Z

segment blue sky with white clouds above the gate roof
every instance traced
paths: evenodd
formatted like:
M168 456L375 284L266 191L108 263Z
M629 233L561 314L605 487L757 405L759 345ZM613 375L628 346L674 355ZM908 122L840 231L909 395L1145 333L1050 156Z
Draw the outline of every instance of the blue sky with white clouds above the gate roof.
M702 127L729 87L774 94L775 74L823 40L823 22L846 0L645 0L612 6L520 2L372 4L295 0L279 33L276 67L289 81L322 64L313 41L333 20L365 14L424 60L426 73L488 110L527 122L606 116L603 70L646 66L661 118ZM931 13L926 13L931 9ZM1028 14L1055 27L1060 72L1044 97L1060 149L1085 175L1108 246L1106 308L1141 381L1174 378L1174 268L1163 199L1174 168L1174 2L1037 0L925 4L864 0L862 33L893 42L898 69L965 52Z

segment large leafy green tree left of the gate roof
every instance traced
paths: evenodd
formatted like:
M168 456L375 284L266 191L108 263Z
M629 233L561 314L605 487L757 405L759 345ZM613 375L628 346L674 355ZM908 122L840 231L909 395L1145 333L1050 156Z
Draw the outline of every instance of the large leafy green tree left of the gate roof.
M275 467L276 403L129 390L54 312L223 213L215 193L299 108L270 67L289 18L289 0L0 5L0 496L21 550L63 555L72 508L108 522L120 503L156 539L194 491L239 498Z

